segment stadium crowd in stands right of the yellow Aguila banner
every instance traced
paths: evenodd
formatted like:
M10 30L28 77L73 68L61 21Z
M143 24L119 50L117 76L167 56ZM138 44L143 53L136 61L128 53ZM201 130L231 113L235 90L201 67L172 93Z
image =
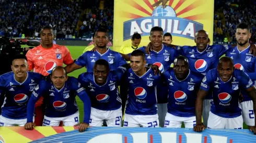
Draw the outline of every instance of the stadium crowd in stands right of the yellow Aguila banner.
M251 27L251 42L256 42L256 1L215 1L214 42L236 42L236 26L243 22Z

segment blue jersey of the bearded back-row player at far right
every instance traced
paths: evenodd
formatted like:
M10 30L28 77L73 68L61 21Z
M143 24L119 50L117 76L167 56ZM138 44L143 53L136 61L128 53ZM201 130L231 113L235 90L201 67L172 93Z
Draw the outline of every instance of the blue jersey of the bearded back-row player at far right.
M255 86L256 58L253 57L252 54L249 54L249 47L243 51L239 51L237 47L229 49L226 52L226 56L233 59L234 66L236 68L246 72L250 76ZM247 95L247 92L245 90L242 90L241 93L243 95L243 101L251 100L251 98Z

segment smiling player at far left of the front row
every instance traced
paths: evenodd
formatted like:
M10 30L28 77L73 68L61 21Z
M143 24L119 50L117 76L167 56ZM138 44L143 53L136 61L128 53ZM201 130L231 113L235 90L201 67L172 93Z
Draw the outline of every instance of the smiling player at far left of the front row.
M0 126L24 126L27 122L27 103L33 88L43 76L28 71L25 55L16 55L11 65L13 72L0 76L0 96L4 96L4 105L0 115ZM31 117L33 120L33 115Z

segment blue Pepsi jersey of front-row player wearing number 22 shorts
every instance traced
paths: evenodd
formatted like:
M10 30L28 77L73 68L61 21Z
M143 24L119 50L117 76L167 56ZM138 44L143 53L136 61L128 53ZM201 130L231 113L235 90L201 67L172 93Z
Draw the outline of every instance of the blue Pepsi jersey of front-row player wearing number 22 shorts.
M142 76L137 76L132 69L125 75L128 84L128 99L125 113L131 115L154 115L157 114L157 90L156 84L160 80L152 69Z

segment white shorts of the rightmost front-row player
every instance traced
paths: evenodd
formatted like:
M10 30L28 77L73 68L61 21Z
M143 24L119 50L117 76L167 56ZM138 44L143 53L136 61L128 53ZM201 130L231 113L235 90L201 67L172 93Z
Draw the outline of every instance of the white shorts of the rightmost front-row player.
M242 115L236 118L223 118L210 112L208 128L242 129Z

